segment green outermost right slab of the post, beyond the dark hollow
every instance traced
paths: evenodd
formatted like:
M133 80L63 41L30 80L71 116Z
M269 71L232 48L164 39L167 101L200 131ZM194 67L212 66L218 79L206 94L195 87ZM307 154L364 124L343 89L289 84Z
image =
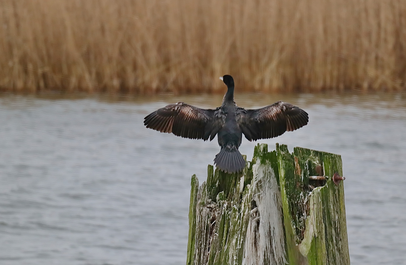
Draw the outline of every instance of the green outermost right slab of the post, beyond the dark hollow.
M300 252L312 265L350 264L344 186L343 182L333 182L335 172L342 176L341 156L305 148L295 148L294 155L302 161L320 159L321 173L326 177L325 185L315 187L309 194L309 218Z

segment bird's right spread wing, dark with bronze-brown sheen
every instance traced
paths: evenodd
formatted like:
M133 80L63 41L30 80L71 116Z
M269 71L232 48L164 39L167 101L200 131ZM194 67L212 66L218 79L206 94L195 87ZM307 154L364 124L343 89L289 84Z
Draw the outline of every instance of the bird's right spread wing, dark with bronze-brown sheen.
M237 109L237 122L249 140L267 139L301 128L309 122L306 111L278 101L261 109Z

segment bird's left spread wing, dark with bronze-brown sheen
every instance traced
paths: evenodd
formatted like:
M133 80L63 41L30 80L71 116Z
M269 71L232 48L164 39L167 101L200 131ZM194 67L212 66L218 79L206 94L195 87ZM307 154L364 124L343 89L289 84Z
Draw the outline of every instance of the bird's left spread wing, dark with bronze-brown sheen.
M185 138L207 140L212 133L214 114L213 109L199 109L178 102L149 114L144 118L144 125Z

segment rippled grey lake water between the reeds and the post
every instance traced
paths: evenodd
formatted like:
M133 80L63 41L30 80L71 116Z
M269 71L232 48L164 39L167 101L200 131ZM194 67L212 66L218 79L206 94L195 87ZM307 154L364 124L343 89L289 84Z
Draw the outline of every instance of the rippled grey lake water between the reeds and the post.
M259 143L341 154L351 263L406 264L406 96L238 94L277 100L309 124ZM186 263L190 177L206 179L219 146L143 126L184 101L222 95L0 96L0 264ZM255 142L240 151L251 160Z

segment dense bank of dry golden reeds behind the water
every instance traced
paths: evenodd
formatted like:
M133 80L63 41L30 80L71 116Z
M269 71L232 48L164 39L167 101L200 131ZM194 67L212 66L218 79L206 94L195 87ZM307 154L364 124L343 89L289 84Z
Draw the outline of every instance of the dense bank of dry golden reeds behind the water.
M0 0L0 89L402 90L405 0Z

